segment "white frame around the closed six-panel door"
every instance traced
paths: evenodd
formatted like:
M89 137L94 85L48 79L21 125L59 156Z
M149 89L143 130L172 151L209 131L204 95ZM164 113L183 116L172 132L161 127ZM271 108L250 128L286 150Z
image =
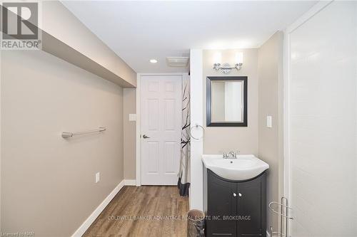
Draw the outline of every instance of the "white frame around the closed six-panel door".
M141 186L141 77L147 75L181 75L182 80L188 73L137 73L136 74L136 186Z

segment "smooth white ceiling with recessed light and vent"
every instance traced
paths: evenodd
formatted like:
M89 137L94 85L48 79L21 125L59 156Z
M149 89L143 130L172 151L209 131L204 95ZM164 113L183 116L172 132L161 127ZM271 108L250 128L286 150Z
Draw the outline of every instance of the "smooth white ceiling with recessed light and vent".
M137 73L179 73L190 48L257 48L316 1L62 1ZM85 40L85 39L83 39ZM156 58L159 63L149 63Z

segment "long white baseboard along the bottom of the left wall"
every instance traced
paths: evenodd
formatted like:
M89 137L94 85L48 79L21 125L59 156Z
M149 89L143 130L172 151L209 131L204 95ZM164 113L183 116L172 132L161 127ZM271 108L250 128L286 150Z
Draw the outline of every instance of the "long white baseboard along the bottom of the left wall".
M91 226L91 223L93 223L96 220L96 218L99 216L99 214L101 214L101 211L103 211L106 208L106 206L109 204L111 199L113 199L114 196L116 196L116 194L120 191L120 189L123 188L124 183L125 183L125 180L121 181L118 184L118 186L116 186L113 189L113 191L111 191L111 193L104 199L104 201L101 202L101 204L99 204L99 206L86 219L86 221L84 221L84 223L82 223L81 226L79 226L79 228L76 230L76 232L74 232L72 237L83 236L84 232L86 232L86 230L89 228L89 226Z

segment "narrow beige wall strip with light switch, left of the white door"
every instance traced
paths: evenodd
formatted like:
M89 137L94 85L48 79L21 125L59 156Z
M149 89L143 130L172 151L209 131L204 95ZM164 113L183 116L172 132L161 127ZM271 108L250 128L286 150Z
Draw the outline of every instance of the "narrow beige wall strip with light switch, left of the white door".
M136 121L129 121L129 114L136 114L136 89L124 88L124 179L136 179Z

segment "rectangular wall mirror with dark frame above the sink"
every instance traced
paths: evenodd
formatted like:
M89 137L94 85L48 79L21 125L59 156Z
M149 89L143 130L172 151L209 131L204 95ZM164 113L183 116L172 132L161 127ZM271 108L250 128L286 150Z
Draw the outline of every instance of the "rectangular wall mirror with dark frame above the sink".
M207 77L207 127L247 127L248 77Z

